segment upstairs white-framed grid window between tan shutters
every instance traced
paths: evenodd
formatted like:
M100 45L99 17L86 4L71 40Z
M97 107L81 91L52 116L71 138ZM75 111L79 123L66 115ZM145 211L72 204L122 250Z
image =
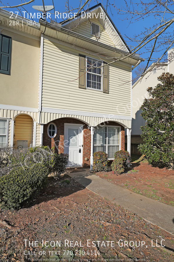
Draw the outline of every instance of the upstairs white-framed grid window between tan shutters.
M87 57L86 87L102 91L102 61Z

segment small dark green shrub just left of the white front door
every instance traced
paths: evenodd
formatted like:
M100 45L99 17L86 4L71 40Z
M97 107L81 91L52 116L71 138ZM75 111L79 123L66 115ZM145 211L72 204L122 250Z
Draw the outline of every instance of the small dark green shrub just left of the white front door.
M52 171L54 172L55 179L59 179L60 175L64 172L67 164L68 164L68 154L53 154L53 166Z

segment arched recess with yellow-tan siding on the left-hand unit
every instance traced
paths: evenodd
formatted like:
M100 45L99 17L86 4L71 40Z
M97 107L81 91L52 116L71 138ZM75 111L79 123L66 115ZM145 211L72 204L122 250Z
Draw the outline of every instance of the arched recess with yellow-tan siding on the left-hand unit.
M14 119L14 148L27 148L32 144L33 119L26 114L20 114Z

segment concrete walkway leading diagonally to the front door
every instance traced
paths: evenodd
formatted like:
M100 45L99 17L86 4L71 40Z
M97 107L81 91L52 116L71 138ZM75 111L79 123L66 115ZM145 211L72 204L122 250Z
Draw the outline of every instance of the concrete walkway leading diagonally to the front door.
M92 192L109 199L113 203L136 213L147 221L174 234L174 207L133 193L88 171L68 172L68 175Z

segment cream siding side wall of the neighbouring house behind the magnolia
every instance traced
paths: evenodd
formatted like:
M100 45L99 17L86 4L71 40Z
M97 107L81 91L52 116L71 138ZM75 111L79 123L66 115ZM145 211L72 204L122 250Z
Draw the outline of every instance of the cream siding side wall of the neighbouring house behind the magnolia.
M148 98L148 87L155 87L158 84L157 77L163 72L167 72L167 66L158 68L156 73L153 71L147 73L132 89L132 132L131 135L140 135L142 131L140 127L145 125L145 121L140 116L142 113L140 107L143 104L144 98Z

